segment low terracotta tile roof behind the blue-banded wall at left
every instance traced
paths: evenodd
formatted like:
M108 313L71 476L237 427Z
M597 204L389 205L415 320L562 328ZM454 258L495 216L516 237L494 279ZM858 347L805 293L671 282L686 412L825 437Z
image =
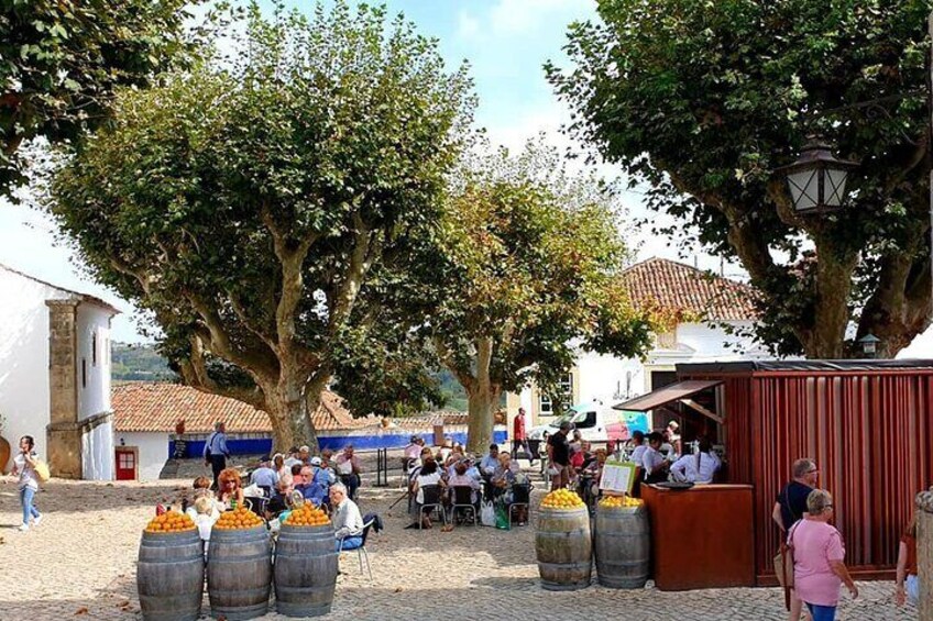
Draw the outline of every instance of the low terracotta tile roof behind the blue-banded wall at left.
M113 386L111 400L117 431L174 433L175 423L184 419L186 433L209 433L217 421L226 422L229 433L272 433L264 411L180 384L121 384ZM312 417L317 431L360 429L378 422L373 418L354 419L333 392L325 391L321 401Z

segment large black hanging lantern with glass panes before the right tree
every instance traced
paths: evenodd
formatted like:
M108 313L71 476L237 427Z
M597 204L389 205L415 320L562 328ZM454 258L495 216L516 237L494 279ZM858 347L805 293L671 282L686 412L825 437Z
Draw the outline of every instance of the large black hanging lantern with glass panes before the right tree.
M842 209L846 199L849 170L855 162L836 158L830 146L811 138L797 162L778 168L787 177L797 213L826 213Z

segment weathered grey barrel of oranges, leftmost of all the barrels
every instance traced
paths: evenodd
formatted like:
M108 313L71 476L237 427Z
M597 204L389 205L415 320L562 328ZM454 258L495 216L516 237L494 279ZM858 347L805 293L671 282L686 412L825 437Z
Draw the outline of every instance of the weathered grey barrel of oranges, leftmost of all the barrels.
M146 621L194 621L200 617L204 544L197 529L180 533L143 532L136 590Z

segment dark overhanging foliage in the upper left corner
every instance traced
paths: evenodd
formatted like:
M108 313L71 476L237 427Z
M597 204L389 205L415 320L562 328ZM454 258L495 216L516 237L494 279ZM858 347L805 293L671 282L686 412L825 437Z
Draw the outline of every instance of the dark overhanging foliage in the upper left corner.
M113 90L143 87L188 43L187 0L4 0L0 13L0 196L26 181L18 149L75 141L103 122Z

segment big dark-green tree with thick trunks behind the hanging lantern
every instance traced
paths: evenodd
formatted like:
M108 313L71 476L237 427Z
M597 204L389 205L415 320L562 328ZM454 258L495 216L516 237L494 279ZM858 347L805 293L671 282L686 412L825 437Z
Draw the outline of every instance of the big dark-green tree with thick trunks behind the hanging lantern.
M573 67L547 68L572 130L650 184L647 206L677 221L658 232L742 259L766 343L838 352L854 319L897 351L925 326L927 1L599 4L602 24L570 27ZM849 209L823 220L797 217L775 176L811 134L863 164ZM820 268L801 286L806 237Z

